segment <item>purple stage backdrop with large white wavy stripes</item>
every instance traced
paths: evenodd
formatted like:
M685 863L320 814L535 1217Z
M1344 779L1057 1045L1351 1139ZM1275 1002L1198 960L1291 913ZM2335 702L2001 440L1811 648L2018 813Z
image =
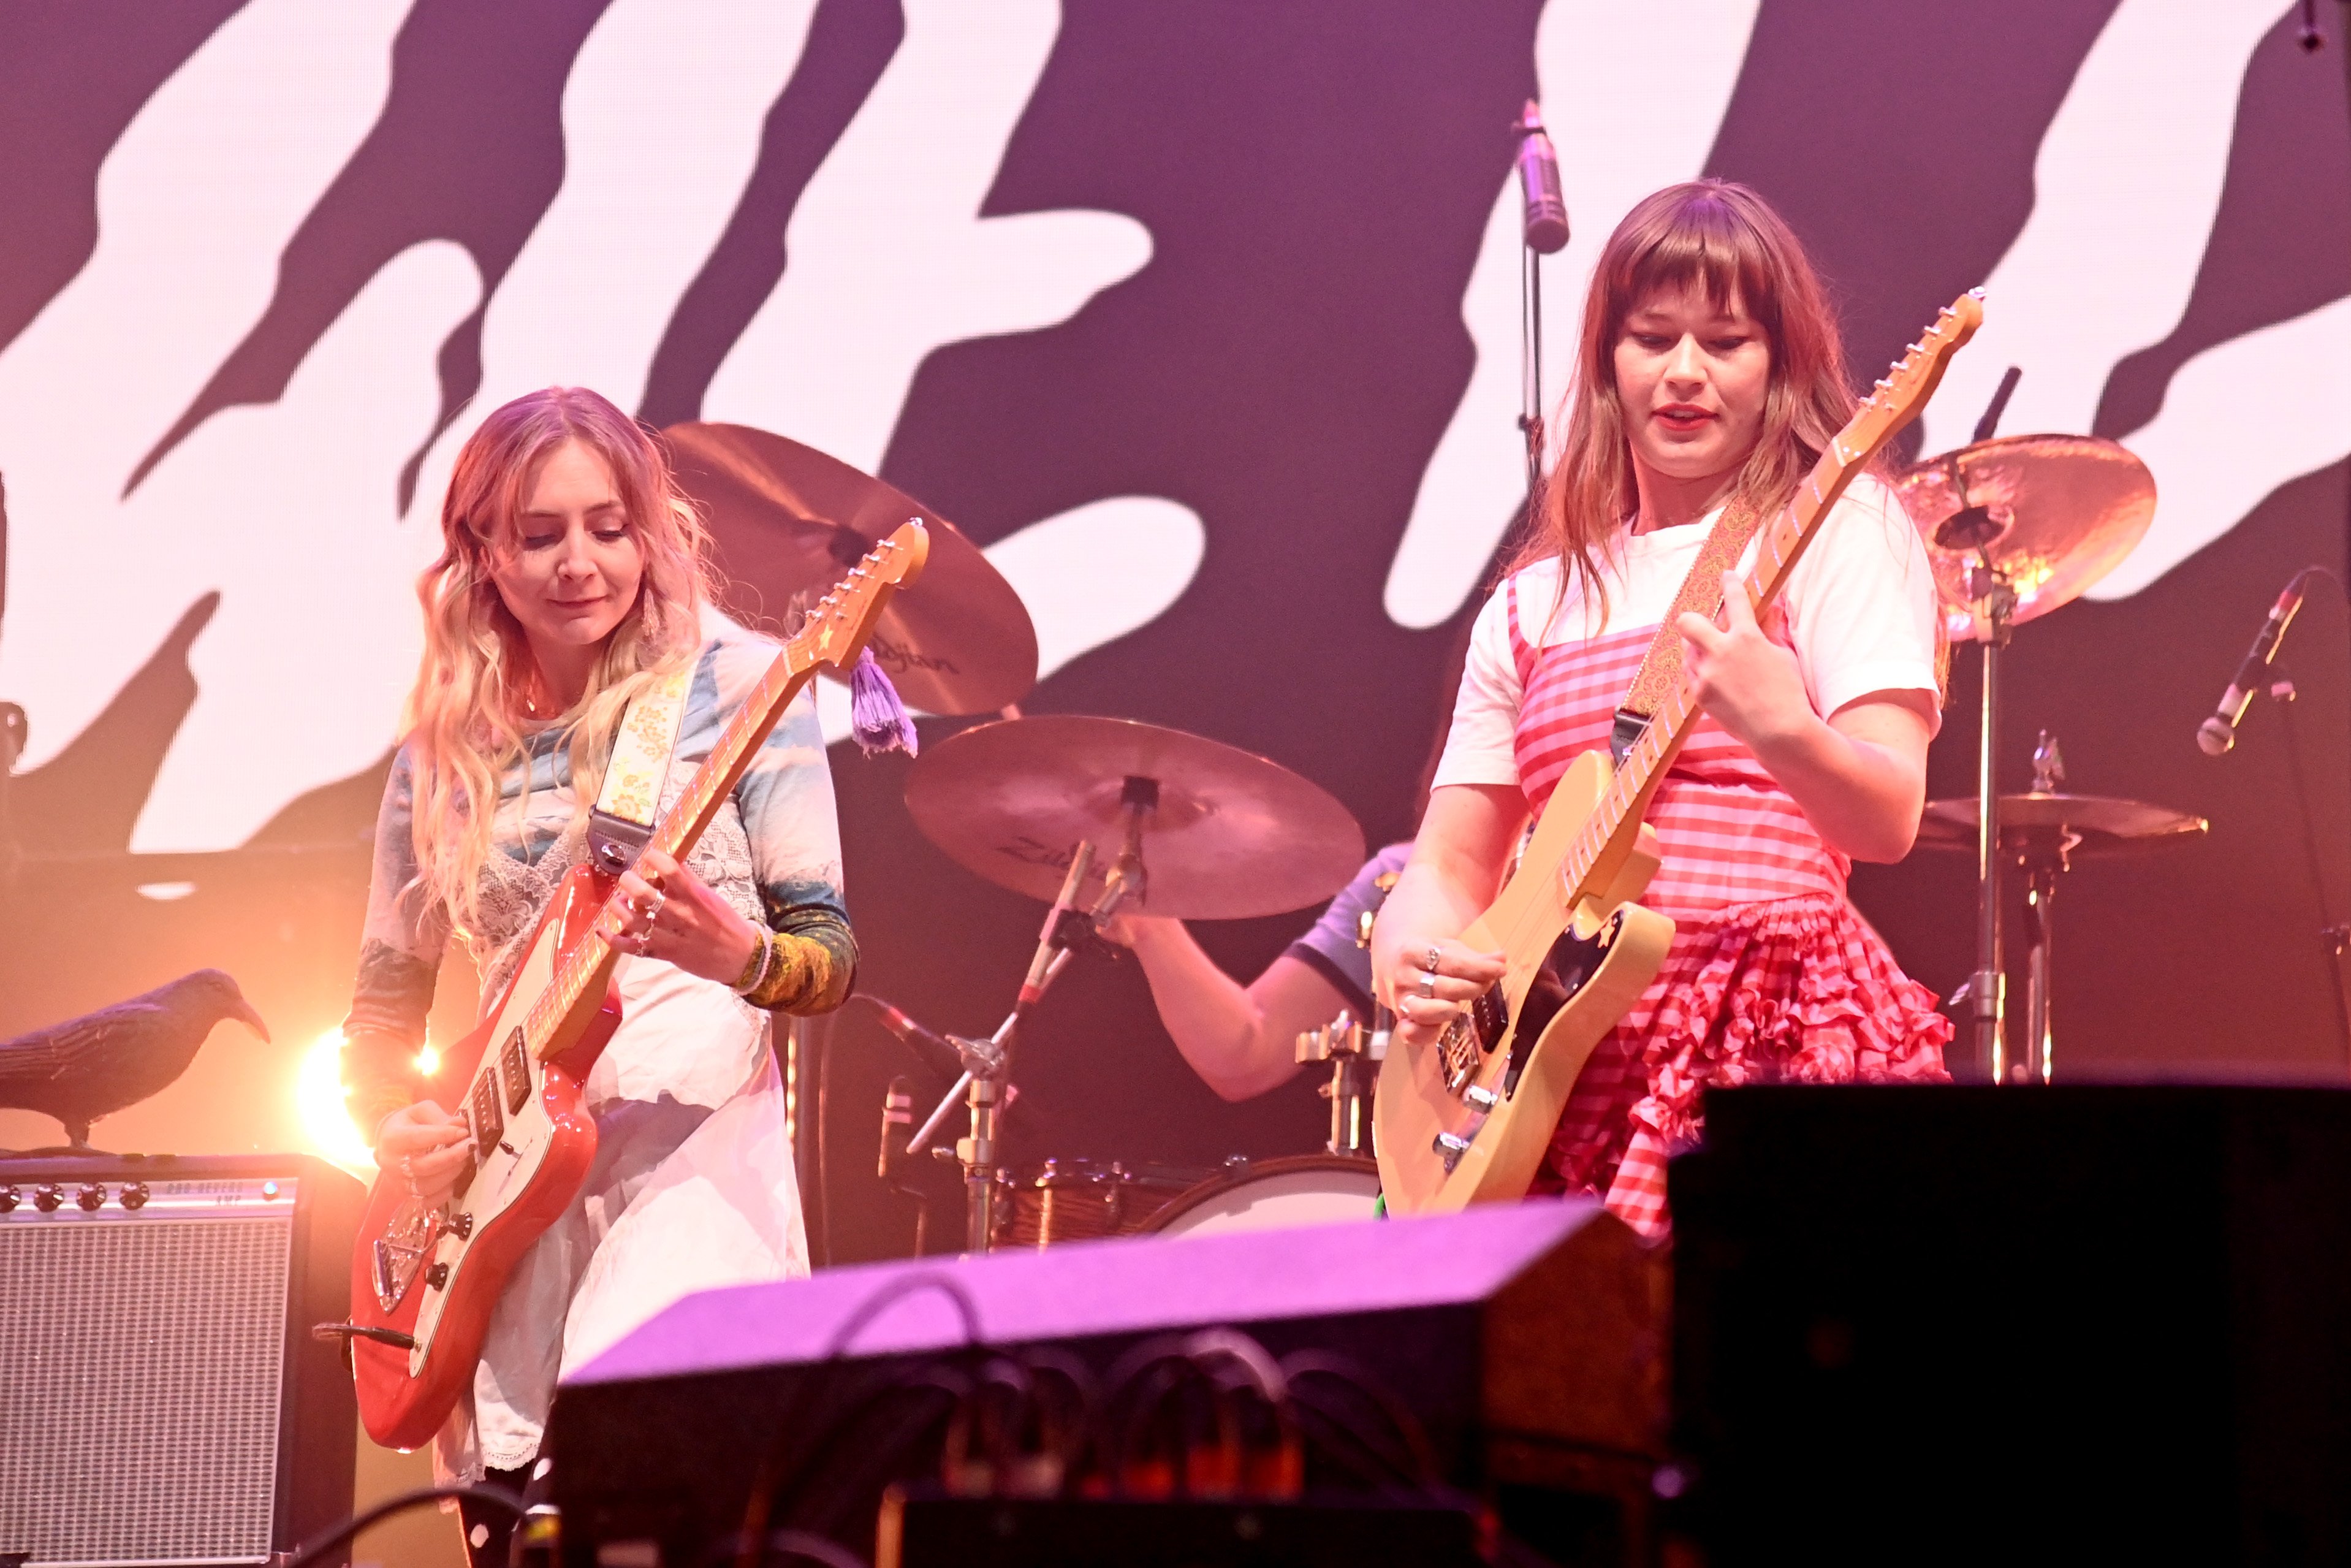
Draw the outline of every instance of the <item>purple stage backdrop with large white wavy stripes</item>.
M1215 736L1404 837L1521 487L1507 127L1540 94L1554 395L1608 228L1723 174L1810 242L1864 376L1989 287L1907 451L2017 364L2005 433L2149 463L2146 543L2017 635L2005 783L2048 729L2074 788L2212 835L2067 877L2059 1063L2342 1072L2337 599L2285 656L2311 839L2276 710L2193 748L2278 585L2344 557L2351 134L2339 40L2295 35L2278 0L0 5L0 698L31 715L0 1034L219 964L275 1044L223 1030L99 1143L313 1135L411 578L458 442L552 381L889 477L1027 599L1030 712ZM1961 651L1935 795L1970 788L1975 691ZM905 759L832 766L860 987L990 1027L1039 905L912 830ZM1928 985L1972 966L1963 858L1855 896ZM1310 914L1201 940L1248 976ZM832 1258L910 1241L872 1178L905 1067L844 1016ZM1131 964L1079 966L1018 1077L1023 1161L1321 1138L1310 1081L1201 1088Z

